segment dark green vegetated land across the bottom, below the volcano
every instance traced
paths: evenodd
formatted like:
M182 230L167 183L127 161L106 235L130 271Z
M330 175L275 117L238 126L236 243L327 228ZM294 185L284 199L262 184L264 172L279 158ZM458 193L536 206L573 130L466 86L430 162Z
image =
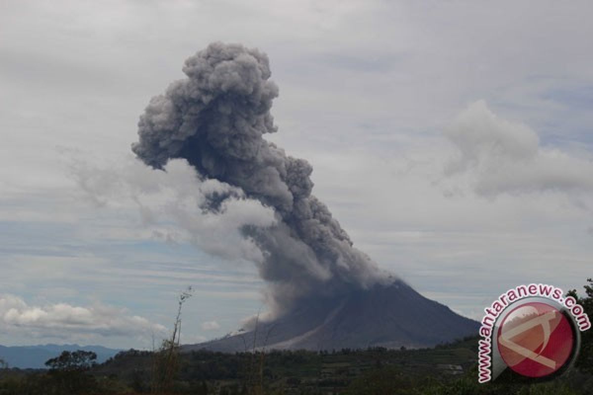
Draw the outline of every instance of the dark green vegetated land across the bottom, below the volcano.
M570 294L593 316L593 282L586 296ZM183 295L183 294L182 294ZM503 374L477 383L477 341L470 337L430 349L221 352L181 354L177 326L161 349L120 352L95 365L90 352L63 352L49 370L0 367L0 395L577 395L593 393L592 333L568 374L547 383L526 384ZM157 383L157 385L155 385Z

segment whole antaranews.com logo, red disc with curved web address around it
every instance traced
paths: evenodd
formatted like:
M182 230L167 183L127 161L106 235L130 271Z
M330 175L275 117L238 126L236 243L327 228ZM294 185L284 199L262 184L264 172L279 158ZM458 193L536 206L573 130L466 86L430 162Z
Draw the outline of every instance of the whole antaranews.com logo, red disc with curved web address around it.
M519 285L484 309L478 381L511 369L527 378L562 374L575 361L589 317L572 296L547 284Z

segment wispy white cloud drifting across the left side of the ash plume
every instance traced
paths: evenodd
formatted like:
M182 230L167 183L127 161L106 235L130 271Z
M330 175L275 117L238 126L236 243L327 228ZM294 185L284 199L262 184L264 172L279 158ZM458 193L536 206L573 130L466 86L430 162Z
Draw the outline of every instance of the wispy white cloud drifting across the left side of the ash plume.
M144 226L165 242L190 242L225 259L262 261L262 252L240 234L246 225L272 226L274 211L244 192L215 179L200 179L184 159L170 160L163 170L126 157L107 167L74 160L71 172L84 195L98 206L138 208ZM202 209L214 196L220 208Z

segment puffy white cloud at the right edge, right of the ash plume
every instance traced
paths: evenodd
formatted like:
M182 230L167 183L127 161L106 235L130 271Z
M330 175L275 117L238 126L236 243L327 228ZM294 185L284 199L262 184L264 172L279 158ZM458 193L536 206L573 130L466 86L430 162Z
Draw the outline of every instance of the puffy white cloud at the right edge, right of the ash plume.
M542 146L530 127L497 117L484 101L462 111L445 136L459 153L445 172L469 174L480 195L593 190L591 158Z

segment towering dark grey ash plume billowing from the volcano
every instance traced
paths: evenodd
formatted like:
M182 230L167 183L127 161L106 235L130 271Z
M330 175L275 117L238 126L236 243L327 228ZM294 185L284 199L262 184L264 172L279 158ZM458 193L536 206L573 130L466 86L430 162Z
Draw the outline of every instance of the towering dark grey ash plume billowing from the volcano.
M326 205L311 195L311 165L263 138L277 131L270 108L278 86L269 79L266 54L213 43L187 59L183 72L186 79L151 99L132 150L157 169L186 159L204 179L228 183L273 208L274 226L240 229L262 251L256 264L269 284L272 310L382 281L383 272L353 248ZM237 198L209 196L202 210L214 213Z

